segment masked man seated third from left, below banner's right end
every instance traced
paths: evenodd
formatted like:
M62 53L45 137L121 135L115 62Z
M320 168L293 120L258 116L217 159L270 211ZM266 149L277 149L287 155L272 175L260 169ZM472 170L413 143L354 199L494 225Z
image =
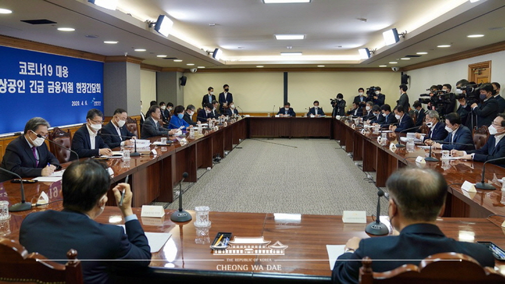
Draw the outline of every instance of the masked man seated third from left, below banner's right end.
M133 142L129 139L135 139L136 137L126 128L126 119L128 119L126 110L118 108L114 111L112 120L102 128L100 137L102 137L109 148L133 146Z

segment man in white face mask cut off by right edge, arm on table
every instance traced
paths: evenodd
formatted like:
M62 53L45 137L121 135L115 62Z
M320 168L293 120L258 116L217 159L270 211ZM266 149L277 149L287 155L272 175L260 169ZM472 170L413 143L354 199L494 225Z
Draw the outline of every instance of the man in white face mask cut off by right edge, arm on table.
M487 160L505 157L505 113L498 113L491 126L491 136L482 148L472 151L451 150L453 156L463 156L463 159L485 162ZM505 167L505 160L492 162Z

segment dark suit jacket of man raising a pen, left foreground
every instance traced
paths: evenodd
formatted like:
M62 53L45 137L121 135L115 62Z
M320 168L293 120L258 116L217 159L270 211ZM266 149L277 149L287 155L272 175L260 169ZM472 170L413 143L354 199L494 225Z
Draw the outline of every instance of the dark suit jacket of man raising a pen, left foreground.
M48 210L26 216L21 223L19 242L28 252L38 252L48 259L66 259L69 249L77 250L80 260L97 259L81 262L84 282L107 283L111 281L111 268L139 269L147 267L151 259L140 222L131 220L125 226L127 235L120 226L100 224L79 212Z

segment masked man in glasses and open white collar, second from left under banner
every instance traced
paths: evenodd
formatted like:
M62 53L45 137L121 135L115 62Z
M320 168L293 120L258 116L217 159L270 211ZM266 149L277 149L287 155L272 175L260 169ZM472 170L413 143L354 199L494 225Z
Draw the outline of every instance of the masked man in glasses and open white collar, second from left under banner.
M104 124L103 118L102 111L91 108L86 115L86 124L74 133L72 150L79 155L79 158L112 154L111 149L105 144L102 137L97 135L98 130L102 129ZM75 159L77 159L77 156L71 153L70 160Z

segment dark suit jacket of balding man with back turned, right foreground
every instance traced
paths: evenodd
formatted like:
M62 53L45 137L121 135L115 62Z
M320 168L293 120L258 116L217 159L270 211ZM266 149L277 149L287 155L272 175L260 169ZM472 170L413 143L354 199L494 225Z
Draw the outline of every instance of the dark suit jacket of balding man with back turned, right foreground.
M338 257L332 271L334 283L358 283L361 259L372 259L374 272L392 270L403 264L419 265L418 259L442 252L457 252L473 257L482 266L494 267L494 258L489 249L480 244L458 242L444 236L436 225L419 223L406 226L399 236L363 239L355 253ZM391 259L391 261L373 261ZM352 261L345 261L352 260Z

